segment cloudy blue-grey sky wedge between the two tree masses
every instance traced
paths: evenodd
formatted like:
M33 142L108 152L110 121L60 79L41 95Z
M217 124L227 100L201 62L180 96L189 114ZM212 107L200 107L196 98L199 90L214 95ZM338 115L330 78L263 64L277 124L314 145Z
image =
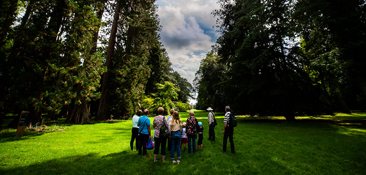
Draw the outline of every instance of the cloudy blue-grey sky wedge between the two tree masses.
M173 69L192 83L201 59L219 36L212 11L220 6L217 0L157 0L156 4L160 41Z

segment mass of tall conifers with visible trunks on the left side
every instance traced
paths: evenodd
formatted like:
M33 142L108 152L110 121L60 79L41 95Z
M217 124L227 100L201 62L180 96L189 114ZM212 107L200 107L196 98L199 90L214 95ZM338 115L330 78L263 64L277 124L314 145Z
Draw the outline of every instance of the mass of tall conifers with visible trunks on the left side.
M2 0L1 113L28 110L29 126L44 114L76 124L127 118L165 81L177 89L171 107L187 103L194 88L158 41L154 2Z

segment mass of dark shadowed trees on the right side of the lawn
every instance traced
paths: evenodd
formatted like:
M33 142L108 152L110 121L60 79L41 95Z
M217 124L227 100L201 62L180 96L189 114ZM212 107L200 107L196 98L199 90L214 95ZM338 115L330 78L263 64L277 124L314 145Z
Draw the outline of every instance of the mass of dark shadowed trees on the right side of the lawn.
M194 81L197 108L252 115L366 108L364 0L219 0L221 36Z

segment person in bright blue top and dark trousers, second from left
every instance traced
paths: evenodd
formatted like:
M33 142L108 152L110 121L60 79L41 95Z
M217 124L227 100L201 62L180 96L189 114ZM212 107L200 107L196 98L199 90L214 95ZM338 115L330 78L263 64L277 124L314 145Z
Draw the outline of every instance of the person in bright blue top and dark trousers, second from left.
M138 118L138 155L145 155L147 154L146 151L146 143L151 138L151 129L150 129L150 119L147 117L149 114L149 110L143 110L143 115ZM141 149L142 148L142 149Z

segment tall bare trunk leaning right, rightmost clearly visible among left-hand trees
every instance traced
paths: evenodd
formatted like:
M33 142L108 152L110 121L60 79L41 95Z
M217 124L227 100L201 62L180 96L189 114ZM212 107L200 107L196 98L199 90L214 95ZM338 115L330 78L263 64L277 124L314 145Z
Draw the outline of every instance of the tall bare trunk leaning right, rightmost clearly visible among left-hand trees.
M99 101L98 113L97 116L94 118L95 120L107 120L112 119L109 113L109 109L107 108L107 96L108 96L108 70L112 67L112 59L114 53L114 46L116 42L116 35L117 35L117 27L118 27L118 20L121 11L121 0L117 1L117 5L115 8L115 13L113 17L112 29L111 34L109 36L109 43L107 49L107 57L105 61L105 66L107 67L107 71L103 74L102 80L102 95Z

